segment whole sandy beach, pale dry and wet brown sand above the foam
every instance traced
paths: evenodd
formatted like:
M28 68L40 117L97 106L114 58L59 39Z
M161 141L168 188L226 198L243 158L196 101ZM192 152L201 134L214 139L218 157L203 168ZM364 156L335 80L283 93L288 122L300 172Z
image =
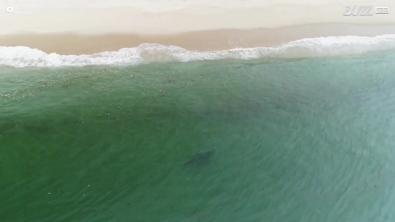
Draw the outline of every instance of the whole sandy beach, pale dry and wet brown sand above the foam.
M371 4L350 1L349 4ZM395 34L394 13L343 16L342 1L124 0L2 2L1 46L61 55L92 54L142 43L216 51L270 47L303 38ZM376 1L391 9L394 3ZM394 7L392 7L394 8Z

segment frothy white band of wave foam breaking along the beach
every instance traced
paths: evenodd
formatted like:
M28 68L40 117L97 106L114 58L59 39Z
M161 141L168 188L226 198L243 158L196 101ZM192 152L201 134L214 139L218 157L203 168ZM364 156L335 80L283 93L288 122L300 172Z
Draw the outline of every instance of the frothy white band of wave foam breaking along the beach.
M92 55L47 54L29 47L0 47L0 65L22 67L84 66L103 64L139 64L160 61L188 62L215 59L255 59L263 57L303 58L355 55L395 49L395 35L376 37L340 36L309 38L276 47L230 49L224 51L189 51L178 46L141 44L135 48L95 53Z

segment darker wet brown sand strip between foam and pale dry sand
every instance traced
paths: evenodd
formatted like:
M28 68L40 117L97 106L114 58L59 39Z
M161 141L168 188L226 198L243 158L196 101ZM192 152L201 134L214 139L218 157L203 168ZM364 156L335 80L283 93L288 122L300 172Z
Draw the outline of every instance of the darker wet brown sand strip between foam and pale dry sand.
M165 35L139 34L19 34L0 36L1 46L26 46L47 54L90 55L142 43L176 45L187 50L221 51L232 48L275 47L304 38L395 34L395 25L355 25L346 23L305 24L251 30L218 29Z

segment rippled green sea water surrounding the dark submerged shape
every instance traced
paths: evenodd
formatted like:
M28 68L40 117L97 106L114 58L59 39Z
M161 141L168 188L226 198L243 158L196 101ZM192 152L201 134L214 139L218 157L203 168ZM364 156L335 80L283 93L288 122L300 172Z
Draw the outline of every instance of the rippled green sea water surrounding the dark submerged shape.
M1 221L395 221L394 59L2 67Z

